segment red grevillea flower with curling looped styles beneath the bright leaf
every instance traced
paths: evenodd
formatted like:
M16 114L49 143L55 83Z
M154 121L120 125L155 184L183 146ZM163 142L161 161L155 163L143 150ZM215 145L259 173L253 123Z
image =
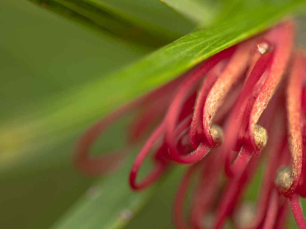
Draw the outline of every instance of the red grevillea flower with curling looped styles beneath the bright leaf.
M91 159L89 148L108 125L139 110L130 144L158 124L135 158L131 187L151 185L175 163L191 164L175 197L177 228L222 228L227 219L241 229L284 228L289 206L306 228L299 202L306 197L305 70L306 57L294 47L294 23L283 22L101 119L80 138L76 165L90 174L114 168L123 152ZM154 166L136 181L149 154ZM257 205L248 211L242 195L263 158ZM192 177L197 184L187 221Z

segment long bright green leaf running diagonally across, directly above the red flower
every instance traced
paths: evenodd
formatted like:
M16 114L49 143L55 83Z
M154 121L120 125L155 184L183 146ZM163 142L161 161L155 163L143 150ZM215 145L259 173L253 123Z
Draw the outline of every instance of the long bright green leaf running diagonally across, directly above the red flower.
M266 5L265 5L266 6ZM20 136L18 148L24 145L46 144L47 136L63 135L85 122L106 115L114 108L140 96L180 75L213 54L236 44L267 27L297 9L303 9L305 1L288 1L243 12L225 24L202 29L159 49L144 59L123 68L115 74L81 85L62 94L58 101L46 101L38 112L28 117L28 122L6 123L0 129L0 144L9 142L11 136ZM262 15L265 15L263 17ZM31 120L32 118L32 120Z

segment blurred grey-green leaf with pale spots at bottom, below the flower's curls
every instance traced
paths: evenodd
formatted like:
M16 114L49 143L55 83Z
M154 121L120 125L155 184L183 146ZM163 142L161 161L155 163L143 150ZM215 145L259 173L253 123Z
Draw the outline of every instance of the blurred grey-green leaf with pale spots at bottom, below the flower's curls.
M52 228L124 227L143 207L156 188L153 186L141 192L131 190L128 176L134 157L135 154L131 154L122 169L92 185Z

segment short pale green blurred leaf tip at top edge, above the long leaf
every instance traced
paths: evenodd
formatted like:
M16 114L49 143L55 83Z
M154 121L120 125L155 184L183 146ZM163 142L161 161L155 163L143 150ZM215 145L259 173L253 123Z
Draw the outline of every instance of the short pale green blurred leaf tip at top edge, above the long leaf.
M175 11L193 20L197 25L209 25L217 16L219 1L211 0L159 0Z

